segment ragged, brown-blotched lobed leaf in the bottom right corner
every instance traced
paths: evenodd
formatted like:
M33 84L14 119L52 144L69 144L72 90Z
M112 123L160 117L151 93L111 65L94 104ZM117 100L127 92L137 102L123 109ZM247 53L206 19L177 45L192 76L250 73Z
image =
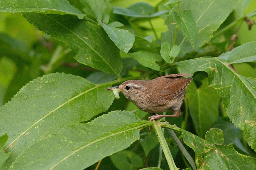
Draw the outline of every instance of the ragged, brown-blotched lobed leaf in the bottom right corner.
M255 158L236 152L233 144L222 145L224 139L223 131L220 129L210 129L205 135L205 140L182 129L182 137L185 144L195 151L198 169L255 169Z

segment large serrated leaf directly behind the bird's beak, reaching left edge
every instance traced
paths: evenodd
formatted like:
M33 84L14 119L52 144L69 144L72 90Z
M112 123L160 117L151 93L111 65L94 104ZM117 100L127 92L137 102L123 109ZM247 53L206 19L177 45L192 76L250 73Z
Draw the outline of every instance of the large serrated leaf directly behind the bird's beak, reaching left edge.
M88 121L106 111L114 100L107 87L111 84L95 85L64 73L48 74L24 86L0 108L0 135L9 135L5 150L12 152L8 164L63 126Z

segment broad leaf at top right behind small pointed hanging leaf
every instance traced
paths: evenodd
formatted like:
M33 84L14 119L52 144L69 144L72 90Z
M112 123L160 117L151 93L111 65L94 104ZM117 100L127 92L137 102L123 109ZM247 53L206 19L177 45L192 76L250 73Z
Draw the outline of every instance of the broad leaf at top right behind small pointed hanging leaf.
M184 10L191 10L196 21L195 48L199 48L206 41L210 41L212 32L216 31L230 12L236 7L240 0L182 0L180 2L180 13ZM174 9L175 11L175 9ZM162 33L162 41L173 44L176 25L170 13L165 21L168 31ZM176 45L181 47L181 53L193 50L189 40L178 29Z

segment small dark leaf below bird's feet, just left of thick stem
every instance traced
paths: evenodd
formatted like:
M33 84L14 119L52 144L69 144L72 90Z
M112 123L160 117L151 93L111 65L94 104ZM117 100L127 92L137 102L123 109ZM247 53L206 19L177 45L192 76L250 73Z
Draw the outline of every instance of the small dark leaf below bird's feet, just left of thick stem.
M145 152L145 155L148 156L148 153L159 144L156 133L152 131L144 139L140 139L140 144Z

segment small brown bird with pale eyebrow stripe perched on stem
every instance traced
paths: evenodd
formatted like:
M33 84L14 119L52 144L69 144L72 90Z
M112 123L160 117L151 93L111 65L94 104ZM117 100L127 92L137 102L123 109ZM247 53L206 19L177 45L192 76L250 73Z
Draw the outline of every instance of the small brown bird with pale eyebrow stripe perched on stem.
M186 94L185 88L193 78L181 78L192 74L171 74L155 78L150 81L127 80L119 86L107 90L117 89L131 100L140 110L149 113L162 113L172 110L173 115L154 115L149 121L162 117L179 117L180 107Z

